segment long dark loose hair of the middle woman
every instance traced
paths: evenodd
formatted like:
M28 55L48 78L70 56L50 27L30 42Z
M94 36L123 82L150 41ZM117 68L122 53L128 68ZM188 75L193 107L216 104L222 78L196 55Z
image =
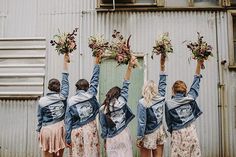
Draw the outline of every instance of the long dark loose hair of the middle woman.
M111 88L107 94L106 94L106 98L103 102L103 105L104 105L104 110L106 110L106 121L108 123L108 127L109 128L113 128L116 126L116 124L112 121L111 119L111 114L110 114L110 108L109 108L109 104L111 103L111 101L114 100L114 98L118 99L119 96L120 96L120 92L121 92L121 89L120 87L113 87ZM114 102L115 103L115 102Z

